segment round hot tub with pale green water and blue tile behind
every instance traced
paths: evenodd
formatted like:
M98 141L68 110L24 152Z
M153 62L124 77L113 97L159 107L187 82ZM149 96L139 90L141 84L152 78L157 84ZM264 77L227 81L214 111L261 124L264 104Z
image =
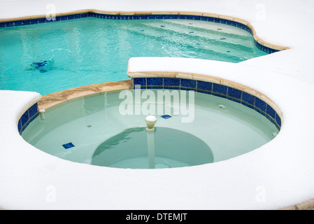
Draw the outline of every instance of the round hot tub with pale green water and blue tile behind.
M158 169L228 160L259 148L280 131L279 116L269 104L240 90L201 81L197 86L203 90L157 87L146 79L138 88L140 81L134 79L133 90L93 94L48 109L24 128L22 137L64 160ZM224 88L226 95L220 91ZM145 125L150 115L157 119L153 132Z

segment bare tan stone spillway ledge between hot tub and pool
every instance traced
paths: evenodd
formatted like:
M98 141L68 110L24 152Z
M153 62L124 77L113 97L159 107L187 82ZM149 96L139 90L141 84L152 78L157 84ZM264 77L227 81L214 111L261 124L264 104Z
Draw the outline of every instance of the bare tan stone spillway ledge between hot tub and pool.
M93 85L84 85L75 87L69 90L62 90L44 95L38 101L38 110L44 109L48 111L55 106L66 104L71 100L90 97L92 95L101 94L104 92L115 92L119 90L127 90L131 88L131 80L122 80L109 83L98 83Z

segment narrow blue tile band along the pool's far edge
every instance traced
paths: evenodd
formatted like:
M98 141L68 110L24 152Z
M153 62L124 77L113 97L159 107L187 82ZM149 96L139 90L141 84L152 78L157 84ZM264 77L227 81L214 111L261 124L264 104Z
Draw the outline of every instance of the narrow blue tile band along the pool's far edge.
M203 15L110 15L110 14L102 14L102 13L80 13L80 14L73 14L73 15L59 15L55 17L55 20L47 20L46 18L38 18L38 19L30 19L30 20L18 20L12 22L0 22L0 28L5 27L17 27L23 25L34 25L38 23L45 23L45 22L56 22L62 20L75 20L79 18L101 18L101 19L108 19L108 20L201 20L201 21L208 21L208 22L216 22L221 23L224 25L230 25L232 27L238 27L248 31L250 34L253 34L252 29L247 25L242 24L241 22L235 22L233 20L226 20L222 18L213 18ZM260 43L258 43L254 38L255 46L268 54L273 52L278 52L280 50L276 50L273 48L266 47Z

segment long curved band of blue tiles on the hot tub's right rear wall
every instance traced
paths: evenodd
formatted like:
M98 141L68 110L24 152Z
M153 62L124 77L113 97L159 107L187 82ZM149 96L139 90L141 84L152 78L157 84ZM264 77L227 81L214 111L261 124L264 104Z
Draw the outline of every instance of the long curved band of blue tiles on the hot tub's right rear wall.
M191 80L184 78L132 78L132 83L135 88L141 89L167 89L167 90L193 90L204 94L213 94L217 97L229 99L233 102L243 104L250 109L257 111L262 116L268 118L271 123L276 125L280 131L281 119L278 113L266 102L258 97L243 92L241 90L220 85L217 83L209 83L200 80ZM139 84L139 83L142 83ZM161 85L163 83L163 85ZM157 85L158 84L158 85ZM135 86L136 85L136 86Z

